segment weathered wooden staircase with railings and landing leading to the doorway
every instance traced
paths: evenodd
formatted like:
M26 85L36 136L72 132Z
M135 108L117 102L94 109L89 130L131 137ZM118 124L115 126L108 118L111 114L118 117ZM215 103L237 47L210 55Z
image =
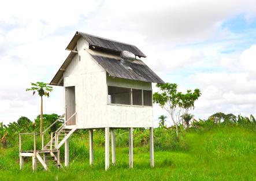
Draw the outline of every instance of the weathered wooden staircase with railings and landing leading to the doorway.
M73 114L73 116L75 116ZM55 123L58 122L61 118L63 118L64 115L60 116L55 122L51 125L53 126ZM33 170L36 168L36 161L38 160L40 164L43 165L43 168L45 170L48 170L51 167L55 168L61 168L61 162L60 162L60 148L62 145L64 145L65 141L71 137L71 135L76 131L76 128L68 129L66 127L66 123L68 123L69 118L66 120L66 122L61 125L55 132L51 133L50 141L47 142L46 145L44 145L44 134L47 133L46 131L50 129L51 126L49 126L46 130L42 133L42 149L36 149L36 133L20 133L19 139L20 139L20 168L23 167L24 163L24 157L26 156L32 156L32 168ZM21 150L21 135L22 134L34 134L34 150Z

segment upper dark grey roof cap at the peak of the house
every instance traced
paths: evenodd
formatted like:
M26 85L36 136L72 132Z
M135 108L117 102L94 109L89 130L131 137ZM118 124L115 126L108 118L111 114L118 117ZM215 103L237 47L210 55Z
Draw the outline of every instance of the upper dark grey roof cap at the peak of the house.
M76 32L75 36L73 37L71 42L68 44L68 47L66 47L66 49L73 50L76 46L77 40L81 36L84 39L86 39L86 41L90 44L89 48L92 48L92 46L94 46L98 48L98 50L114 51L117 53L120 53L121 51L126 50L129 52L132 52L136 56L146 57L146 55L144 55L143 52L139 50L139 48L137 48L132 44L117 42L115 40L110 40L110 39L106 39L99 36L89 35L83 32Z

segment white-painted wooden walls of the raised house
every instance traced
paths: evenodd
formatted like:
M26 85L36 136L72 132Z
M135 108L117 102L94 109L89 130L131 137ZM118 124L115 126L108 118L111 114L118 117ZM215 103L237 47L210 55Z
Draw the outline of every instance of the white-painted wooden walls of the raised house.
M108 77L89 52L114 58L118 56L89 50L83 38L77 42L77 51L79 53L64 73L64 86L75 86L77 129L152 127L152 107L107 104L107 85L151 90L151 83Z

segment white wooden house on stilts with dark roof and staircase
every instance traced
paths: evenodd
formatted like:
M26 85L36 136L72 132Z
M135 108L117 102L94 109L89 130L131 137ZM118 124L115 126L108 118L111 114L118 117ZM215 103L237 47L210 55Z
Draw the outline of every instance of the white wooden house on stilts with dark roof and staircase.
M46 144L42 136L42 148L34 144L34 150L21 149L20 134L20 168L26 156L32 157L34 170L37 162L48 169L49 158L56 167L61 167L62 145L65 166L68 166L69 138L78 129L89 130L90 164L94 164L93 130L105 129L105 169L109 168L110 133L115 164L114 129L129 129L129 167L132 168L135 127L150 128L150 165L154 167L152 82L164 84L164 81L139 59L146 55L131 44L82 32L76 32L66 50L70 53L50 82L64 87L65 122L51 133Z

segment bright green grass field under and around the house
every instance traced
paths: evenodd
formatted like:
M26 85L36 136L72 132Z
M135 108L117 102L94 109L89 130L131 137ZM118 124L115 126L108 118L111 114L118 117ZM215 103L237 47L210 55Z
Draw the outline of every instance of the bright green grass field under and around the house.
M38 171L32 173L28 159L20 171L17 148L1 149L0 180L256 180L255 130L255 126L190 130L179 141L169 140L168 147L170 137L155 137L154 168L148 146L133 149L133 169L128 168L128 148L117 148L117 163L109 171L105 171L105 149L95 146L95 165L90 167L84 135L71 138L70 165L65 169L43 171L38 164Z

